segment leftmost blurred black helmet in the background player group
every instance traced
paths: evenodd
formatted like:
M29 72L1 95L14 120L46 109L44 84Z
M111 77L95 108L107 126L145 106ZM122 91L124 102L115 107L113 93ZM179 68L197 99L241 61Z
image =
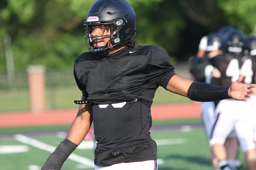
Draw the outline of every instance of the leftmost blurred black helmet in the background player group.
M207 37L207 52L223 50L224 41L218 32L212 32Z

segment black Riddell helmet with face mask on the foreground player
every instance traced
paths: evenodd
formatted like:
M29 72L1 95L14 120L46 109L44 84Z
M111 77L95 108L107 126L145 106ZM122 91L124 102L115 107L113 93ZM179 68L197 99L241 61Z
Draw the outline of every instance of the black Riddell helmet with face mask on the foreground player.
M125 0L98 0L90 8L86 21L86 44L90 52L104 55L126 44L136 34L136 14ZM92 25L110 25L110 35L91 36ZM93 40L109 36L106 46L94 47ZM111 43L111 44L110 44ZM97 43L96 43L97 44Z

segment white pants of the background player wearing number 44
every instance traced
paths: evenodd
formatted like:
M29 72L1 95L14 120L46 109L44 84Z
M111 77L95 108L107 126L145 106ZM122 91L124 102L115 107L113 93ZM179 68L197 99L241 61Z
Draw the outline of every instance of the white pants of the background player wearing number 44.
M250 102L234 99L221 100L215 110L217 117L211 130L210 145L223 145L235 129L243 152L254 149L254 121Z

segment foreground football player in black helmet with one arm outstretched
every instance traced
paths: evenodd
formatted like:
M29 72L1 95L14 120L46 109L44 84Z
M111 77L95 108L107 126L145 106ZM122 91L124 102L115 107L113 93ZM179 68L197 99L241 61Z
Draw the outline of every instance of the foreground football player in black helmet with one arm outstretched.
M82 100L69 133L42 169L61 169L81 143L92 122L97 141L95 169L157 169L157 145L150 137L150 106L159 86L196 101L230 97L247 101L255 84L216 87L193 82L174 72L166 51L136 46L135 12L125 0L98 0L84 24L90 52L74 63Z

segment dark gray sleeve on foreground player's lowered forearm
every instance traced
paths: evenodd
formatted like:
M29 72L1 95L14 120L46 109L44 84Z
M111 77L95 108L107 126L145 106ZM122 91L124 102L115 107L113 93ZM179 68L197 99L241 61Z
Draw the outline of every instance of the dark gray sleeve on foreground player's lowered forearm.
M62 141L49 156L41 170L60 170L65 160L77 148L77 144L68 139Z

